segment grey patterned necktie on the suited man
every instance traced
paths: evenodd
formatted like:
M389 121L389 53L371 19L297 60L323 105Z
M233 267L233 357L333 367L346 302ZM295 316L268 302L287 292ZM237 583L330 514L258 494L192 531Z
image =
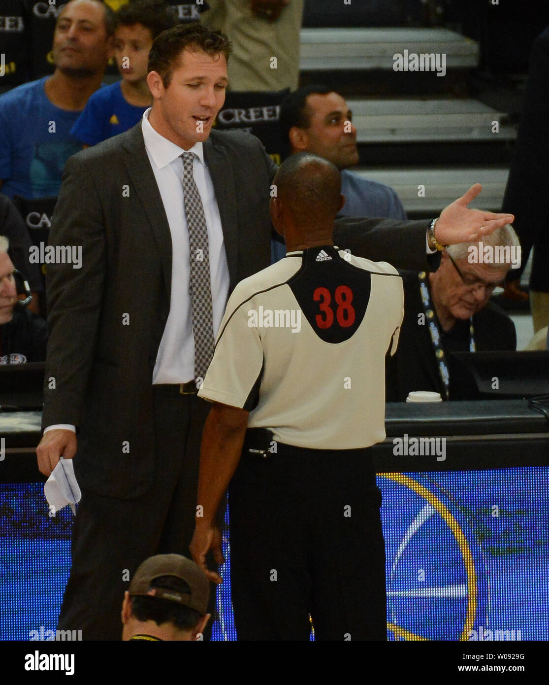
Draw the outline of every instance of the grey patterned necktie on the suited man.
M209 280L208 232L204 208L192 175L194 152L183 152L183 205L187 217L190 251L194 377L204 378L214 356L212 287Z

